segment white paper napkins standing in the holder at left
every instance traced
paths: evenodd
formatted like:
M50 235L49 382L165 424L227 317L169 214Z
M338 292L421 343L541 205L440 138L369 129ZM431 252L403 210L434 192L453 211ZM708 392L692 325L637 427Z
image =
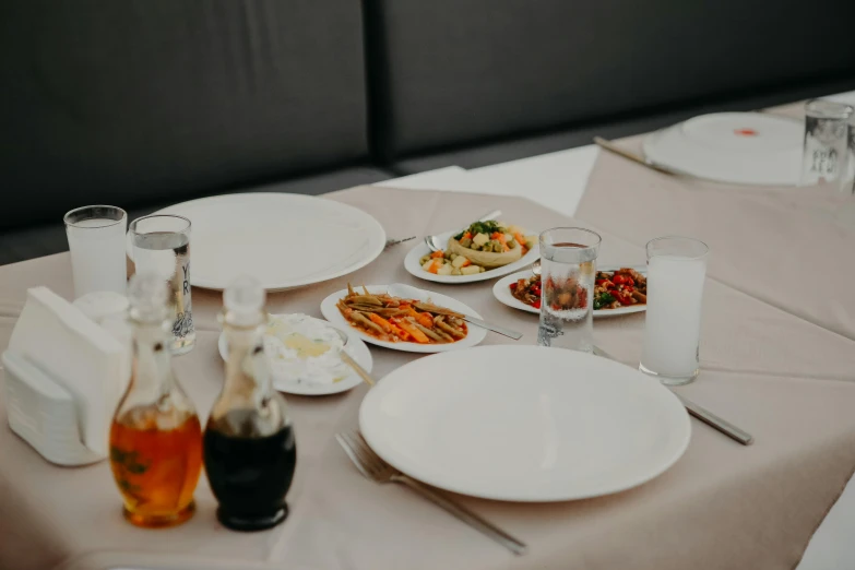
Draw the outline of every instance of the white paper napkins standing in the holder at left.
M36 287L27 290L9 351L72 395L82 443L106 456L109 425L127 385L123 343L47 287Z

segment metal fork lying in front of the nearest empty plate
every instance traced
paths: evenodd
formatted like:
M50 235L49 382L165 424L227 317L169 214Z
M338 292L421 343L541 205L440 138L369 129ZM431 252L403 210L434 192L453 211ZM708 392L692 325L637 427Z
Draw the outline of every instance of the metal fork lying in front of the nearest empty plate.
M358 431L346 431L336 434L335 439L339 444L342 446L344 452L351 458L354 465L359 473L366 476L366 478L373 480L375 483L403 483L421 497L428 499L434 504L446 509L449 513L453 514L464 523L468 524L476 531L482 532L488 537L492 538L500 545L508 548L515 555L524 555L527 550L527 546L524 543L518 541L510 534L506 533L501 529L485 521L474 512L465 509L463 506L458 504L448 497L440 495L430 487L409 478L400 471L395 470L387 462L381 460L377 453L375 453L368 443L365 442L363 436Z

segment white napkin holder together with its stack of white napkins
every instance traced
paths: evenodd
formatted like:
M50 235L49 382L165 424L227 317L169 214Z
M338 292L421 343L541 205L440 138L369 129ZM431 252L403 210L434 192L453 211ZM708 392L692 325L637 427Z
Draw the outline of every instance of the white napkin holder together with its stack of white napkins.
M46 287L27 290L2 360L9 426L48 461L105 459L128 347Z

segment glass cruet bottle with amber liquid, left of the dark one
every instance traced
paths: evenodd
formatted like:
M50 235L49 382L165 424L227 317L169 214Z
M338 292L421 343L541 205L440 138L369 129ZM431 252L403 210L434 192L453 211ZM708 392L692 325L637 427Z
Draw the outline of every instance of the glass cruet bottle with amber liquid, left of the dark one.
M164 280L135 275L128 295L133 371L110 427L110 468L138 526L180 524L193 515L202 471L202 429L171 368L171 311Z

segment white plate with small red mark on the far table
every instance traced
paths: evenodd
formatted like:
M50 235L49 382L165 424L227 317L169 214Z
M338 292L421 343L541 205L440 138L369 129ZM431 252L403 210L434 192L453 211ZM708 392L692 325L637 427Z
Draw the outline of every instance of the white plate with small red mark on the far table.
M716 112L653 132L642 143L655 164L719 182L798 185L805 127L761 112Z

